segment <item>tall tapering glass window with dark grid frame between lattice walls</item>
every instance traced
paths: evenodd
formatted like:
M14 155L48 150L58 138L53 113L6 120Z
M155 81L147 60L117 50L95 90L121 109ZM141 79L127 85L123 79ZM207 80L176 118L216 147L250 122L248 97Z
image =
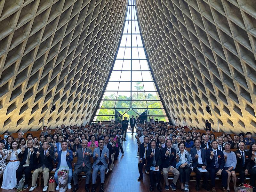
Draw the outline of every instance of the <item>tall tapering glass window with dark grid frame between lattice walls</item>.
M129 0L114 66L93 121L129 119L132 115L169 122L148 66L135 0Z

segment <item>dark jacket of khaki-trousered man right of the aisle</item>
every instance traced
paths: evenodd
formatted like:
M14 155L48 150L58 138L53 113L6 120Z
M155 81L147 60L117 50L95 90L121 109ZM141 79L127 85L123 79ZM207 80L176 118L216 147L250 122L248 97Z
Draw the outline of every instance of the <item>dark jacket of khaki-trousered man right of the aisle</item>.
M162 148L161 150L161 159L162 164L161 168L167 168L169 166L176 167L176 150L174 148L171 148L170 155L166 157L165 153L167 151L167 147Z

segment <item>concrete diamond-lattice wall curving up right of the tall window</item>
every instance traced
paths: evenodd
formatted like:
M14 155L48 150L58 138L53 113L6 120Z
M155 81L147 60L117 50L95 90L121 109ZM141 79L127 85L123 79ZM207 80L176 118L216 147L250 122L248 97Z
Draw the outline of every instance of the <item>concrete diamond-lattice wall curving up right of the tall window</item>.
M138 17L165 108L203 128L210 104L225 132L255 133L256 3L137 0Z

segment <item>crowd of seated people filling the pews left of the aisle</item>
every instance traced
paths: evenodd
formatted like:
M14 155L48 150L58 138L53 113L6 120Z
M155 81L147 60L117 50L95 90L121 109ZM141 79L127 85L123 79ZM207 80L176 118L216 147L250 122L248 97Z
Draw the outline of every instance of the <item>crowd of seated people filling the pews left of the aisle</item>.
M44 126L39 138L33 137L31 133L24 138L23 132L19 132L18 138L14 138L9 132L5 132L3 140L0 141L0 178L3 176L1 188L26 189L32 177L29 191L33 191L36 189L38 174L42 174L43 191L47 191L49 174L54 170L56 190L59 190L58 170L60 167L68 167L68 189L72 188L73 179L73 192L79 190L78 175L84 172L85 191L90 191L89 184L92 182L91 192L95 192L96 179L100 172L100 192L103 192L105 172L112 172L114 169L114 161L120 153L119 148L124 156L124 137L121 133L122 124L106 127L100 123L86 128L61 125L61 128L54 130ZM73 164L75 157L77 162ZM20 188L19 182L23 174L25 181Z

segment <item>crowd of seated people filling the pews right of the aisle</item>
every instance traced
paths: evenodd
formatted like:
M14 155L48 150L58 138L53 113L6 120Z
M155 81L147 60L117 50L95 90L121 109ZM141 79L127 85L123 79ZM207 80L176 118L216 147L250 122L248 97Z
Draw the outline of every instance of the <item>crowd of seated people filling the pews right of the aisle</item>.
M216 177L221 180L221 188L224 192L230 192L229 183L232 180L236 187L237 175L239 183L245 183L245 176L250 174L250 185L253 192L256 191L256 142L251 132L235 134L215 134L207 130L189 128L184 118L180 125L175 120L175 125L163 125L161 123L138 123L135 138L138 142L138 169L139 180L143 180L143 165L149 173L150 187L153 191L155 181L157 190L162 191L160 180L163 175L165 190L176 190L176 184L180 182L181 191L189 191L189 179L191 172L196 175L196 190L204 188L207 191L216 192ZM186 131L185 131L186 130ZM220 134L218 134L220 135ZM173 174L169 185L168 174ZM154 178L156 177L156 178ZM200 186L201 179L203 184ZM208 184L208 180L210 180ZM210 186L210 187L209 187Z

